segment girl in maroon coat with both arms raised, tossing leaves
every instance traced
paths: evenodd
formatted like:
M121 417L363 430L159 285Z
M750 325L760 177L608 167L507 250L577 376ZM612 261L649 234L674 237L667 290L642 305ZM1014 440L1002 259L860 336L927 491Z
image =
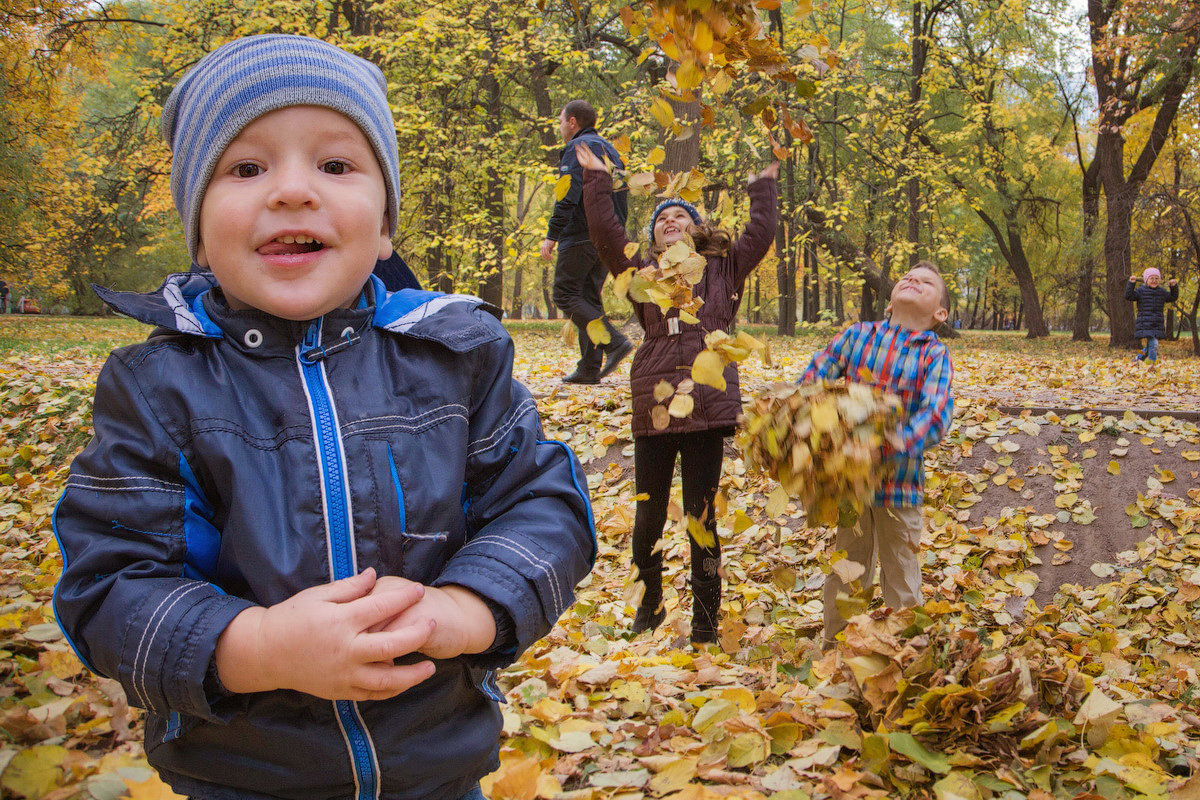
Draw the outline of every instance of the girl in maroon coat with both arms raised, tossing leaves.
M742 411L737 363L725 367L725 391L703 385L690 390L695 402L691 414L676 417L652 411L660 404L655 387L666 381L676 391L686 393L688 386L680 384L691 384L691 363L704 349L704 336L733 323L746 276L767 254L775 237L779 163L751 175L750 223L736 240L701 219L690 203L668 199L660 203L650 217L648 251L640 249L630 258L625 255L629 243L625 229L612 210L612 176L607 167L587 148L576 149L576 155L584 170L583 207L588 230L600 259L614 276L658 263L659 257L678 241L690 240L707 261L703 277L692 288L694 295L703 300L696 314L698 324L680 319L678 308L664 313L653 302L634 302L637 321L646 332L630 367L634 473L637 493L648 497L637 503L634 519L634 566L646 588L634 631L655 628L665 615L662 553L658 545L666 524L678 455L684 513L690 523L691 640L697 644L716 642L721 543L716 539L713 501L721 477L725 438L732 435ZM662 426L664 417L666 426Z

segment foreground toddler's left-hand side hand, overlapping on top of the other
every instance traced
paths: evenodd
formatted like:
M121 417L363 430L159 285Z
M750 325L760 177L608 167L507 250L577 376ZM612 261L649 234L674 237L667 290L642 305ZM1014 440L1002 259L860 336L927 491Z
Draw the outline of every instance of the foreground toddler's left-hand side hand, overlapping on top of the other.
M217 639L221 682L232 692L290 688L330 700L383 700L421 682L433 674L431 662L391 662L425 646L432 619L372 628L418 604L424 587L376 585L368 569L268 608L247 608Z

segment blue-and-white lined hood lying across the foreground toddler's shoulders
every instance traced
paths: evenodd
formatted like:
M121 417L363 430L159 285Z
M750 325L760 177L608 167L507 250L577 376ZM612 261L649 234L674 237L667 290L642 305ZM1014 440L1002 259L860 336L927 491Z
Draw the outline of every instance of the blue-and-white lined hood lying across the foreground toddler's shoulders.
M211 272L175 272L168 275L157 289L144 294L114 291L96 284L91 288L113 311L148 325L190 336L223 338L226 330L212 319L205 302L217 285ZM478 329L486 326L464 329L461 318L451 323L444 314L439 318L440 312L450 308L456 311L482 308L497 319L502 314L499 308L473 295L424 289L388 291L383 281L376 275L368 278L359 297L358 308L365 309L371 306L374 306L371 319L374 327L437 341L460 353L470 349L473 338L482 333Z

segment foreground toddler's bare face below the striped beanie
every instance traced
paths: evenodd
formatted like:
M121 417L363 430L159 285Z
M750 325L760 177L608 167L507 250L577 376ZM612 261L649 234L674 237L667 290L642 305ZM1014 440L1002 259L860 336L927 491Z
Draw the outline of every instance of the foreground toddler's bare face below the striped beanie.
M196 260L233 308L316 319L358 299L391 254L374 150L349 118L293 106L221 155L200 205Z

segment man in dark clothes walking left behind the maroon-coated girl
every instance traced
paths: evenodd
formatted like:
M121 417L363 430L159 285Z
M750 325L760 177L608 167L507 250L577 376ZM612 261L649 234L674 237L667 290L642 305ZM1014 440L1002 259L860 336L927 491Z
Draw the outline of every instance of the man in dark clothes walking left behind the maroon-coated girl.
M553 300L580 333L580 361L575 372L563 378L563 383L568 384L600 383L634 349L632 343L605 317L600 290L608 270L588 237L588 221L583 213L583 169L575 156L575 145L586 144L592 152L600 158L607 157L618 169L624 167L612 144L596 133L595 125L596 112L586 100L572 100L559 114L558 131L566 146L558 173L571 176L571 187L562 200L554 203L554 213L541 242L541 257L546 260L558 246ZM625 224L629 213L628 196L625 190L612 193L612 205L622 224ZM587 325L594 319L604 320L611 337L608 344L593 344L588 337Z

